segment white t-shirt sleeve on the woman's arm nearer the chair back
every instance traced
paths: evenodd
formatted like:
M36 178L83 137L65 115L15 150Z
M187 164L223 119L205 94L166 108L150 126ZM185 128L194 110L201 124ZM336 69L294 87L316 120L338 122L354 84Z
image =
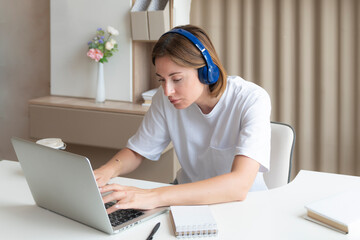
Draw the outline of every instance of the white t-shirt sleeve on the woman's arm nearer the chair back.
M255 91L246 99L236 154L260 163L260 172L270 170L270 114L270 97L264 89Z

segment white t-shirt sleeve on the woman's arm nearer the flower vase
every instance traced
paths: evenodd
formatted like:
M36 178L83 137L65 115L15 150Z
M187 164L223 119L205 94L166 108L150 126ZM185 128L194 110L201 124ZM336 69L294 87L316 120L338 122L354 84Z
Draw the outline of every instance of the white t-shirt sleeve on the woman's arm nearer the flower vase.
M164 98L162 90L159 88L139 129L128 140L126 147L147 159L158 160L169 143L170 136L164 112Z

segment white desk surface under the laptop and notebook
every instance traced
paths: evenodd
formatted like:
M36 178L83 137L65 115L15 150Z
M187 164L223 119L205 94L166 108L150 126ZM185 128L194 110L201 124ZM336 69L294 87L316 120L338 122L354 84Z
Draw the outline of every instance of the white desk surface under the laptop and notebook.
M136 180L118 178L131 183ZM143 182L149 187L157 183ZM360 233L344 235L303 219L304 205L346 189L360 189L360 177L301 171L285 187L249 193L243 202L212 205L219 226L217 239L360 239ZM35 205L20 165L0 161L1 239L146 239L161 222L156 239L176 239L168 213L116 235L107 235ZM204 238L211 239L211 238Z

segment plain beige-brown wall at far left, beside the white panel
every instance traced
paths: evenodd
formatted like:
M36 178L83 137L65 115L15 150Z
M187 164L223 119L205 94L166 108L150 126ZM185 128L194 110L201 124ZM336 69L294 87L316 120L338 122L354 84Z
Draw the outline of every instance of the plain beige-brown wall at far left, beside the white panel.
M49 0L0 0L0 159L11 136L28 138L31 98L50 92Z

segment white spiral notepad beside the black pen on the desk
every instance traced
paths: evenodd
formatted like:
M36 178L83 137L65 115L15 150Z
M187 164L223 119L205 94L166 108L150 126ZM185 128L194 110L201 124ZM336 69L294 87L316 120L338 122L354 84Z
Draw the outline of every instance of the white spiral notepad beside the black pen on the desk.
M217 224L208 205L171 206L170 216L177 238L218 235Z

